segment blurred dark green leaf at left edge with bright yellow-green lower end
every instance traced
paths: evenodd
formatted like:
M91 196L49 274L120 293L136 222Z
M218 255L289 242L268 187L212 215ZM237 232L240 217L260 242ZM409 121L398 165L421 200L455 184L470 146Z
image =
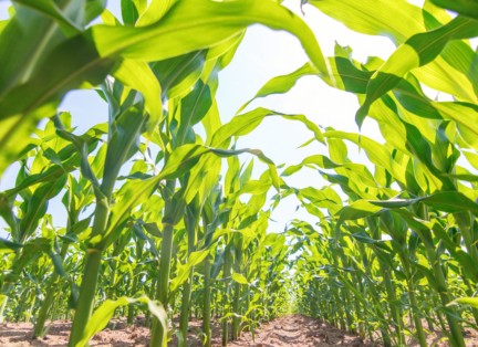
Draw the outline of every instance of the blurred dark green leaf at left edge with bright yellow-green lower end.
M0 96L0 172L29 144L37 123L56 113L62 95L81 82L90 81L95 85L103 81L111 62L100 59L90 65L89 62L97 57L95 54L91 42L76 36L53 50L53 61L45 59L29 82ZM51 66L56 66L54 73Z

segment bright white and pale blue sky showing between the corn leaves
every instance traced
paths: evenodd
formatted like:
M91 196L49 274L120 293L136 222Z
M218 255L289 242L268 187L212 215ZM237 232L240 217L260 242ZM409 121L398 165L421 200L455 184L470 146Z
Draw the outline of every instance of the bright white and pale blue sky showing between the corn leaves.
M419 0L411 2L423 3ZM7 18L9 3L10 1L0 0L0 19ZM302 15L299 3L300 0L288 0L283 4ZM110 0L108 9L119 17L119 0ZM335 42L351 46L354 59L363 62L368 55L386 59L395 49L389 39L352 32L315 8L306 6L304 11L303 19L316 34L324 55L333 55ZM229 120L238 108L271 77L290 73L306 61L308 57L299 41L291 34L272 31L261 25L250 27L231 64L219 74L217 102L222 122ZM281 113L304 114L310 120L323 127L332 126L340 130L357 132L354 122L358 107L356 97L329 87L319 77L303 77L289 93L258 99L249 105L248 109L258 106ZM60 108L72 113L74 126L77 127L76 134L107 119L106 104L91 91L69 93ZM378 127L374 120L368 118L363 125L362 134L381 139ZM274 117L266 119L252 134L241 137L238 148L259 148L277 165L293 165L310 155L326 153L326 148L319 144L298 149L304 140L311 137L311 133L302 124ZM350 154L358 162L367 161L364 154L353 148ZM242 160L246 158L242 157ZM263 166L257 165L257 175L263 169ZM11 167L6 171L0 180L0 191L13 186L17 170L18 168ZM319 174L312 170L303 170L287 179L287 182L298 188L308 186L321 188L326 185ZM288 221L293 218L314 221L304 210L295 211L297 206L298 201L293 198L283 200L271 217L276 222L270 223L270 229L272 231L283 230ZM60 198L50 203L49 212L53 214L55 225L64 225L65 211ZM4 223L0 220L0 235L2 233L4 235L4 231L1 230L2 224Z

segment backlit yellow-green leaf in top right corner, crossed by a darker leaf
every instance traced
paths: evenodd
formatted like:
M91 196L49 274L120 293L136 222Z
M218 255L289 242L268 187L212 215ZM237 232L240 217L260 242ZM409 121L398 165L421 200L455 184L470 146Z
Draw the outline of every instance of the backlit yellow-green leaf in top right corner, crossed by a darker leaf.
M427 10L405 0L393 2L388 0L360 2L353 0L310 0L309 3L356 32L386 36L396 45L404 43L414 34L440 25L440 22ZM449 21L448 15L445 18ZM416 54L405 57L405 60L413 56ZM434 90L456 95L464 101L476 101L474 85L476 85L477 76L471 63L474 56L475 53L469 45L450 42L449 48L443 51L440 57L414 73L422 83ZM465 69L464 65L466 65Z

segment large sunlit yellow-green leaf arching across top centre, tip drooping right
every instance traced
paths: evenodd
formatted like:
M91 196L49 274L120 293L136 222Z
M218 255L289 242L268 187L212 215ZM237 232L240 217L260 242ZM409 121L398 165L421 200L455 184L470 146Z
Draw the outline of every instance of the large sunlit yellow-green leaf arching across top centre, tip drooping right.
M143 61L159 61L214 46L254 23L287 30L298 36L318 71L329 75L311 29L288 9L269 0L181 0L160 21L148 27L95 25L92 34L101 56L121 54Z

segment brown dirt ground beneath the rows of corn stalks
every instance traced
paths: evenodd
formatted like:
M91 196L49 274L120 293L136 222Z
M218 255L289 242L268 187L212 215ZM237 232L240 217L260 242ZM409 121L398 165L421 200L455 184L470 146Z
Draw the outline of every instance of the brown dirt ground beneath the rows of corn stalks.
M61 347L67 345L71 324L69 322L54 322L50 325L48 335L42 339L32 340L32 325L28 323L4 323L0 325L1 347L29 347L50 346ZM188 346L201 346L200 322L195 320L189 325ZM221 345L220 328L212 328L212 345ZM465 330L468 347L478 347L478 334L469 329ZM144 326L144 319L138 318L136 324L127 326L123 319L113 320L106 329L96 334L91 346L97 347L139 347L148 346L149 329ZM430 334L429 346L449 346L441 335ZM169 346L176 346L175 341ZM250 333L242 333L239 340L231 341L228 346L256 346L256 347L321 347L321 346L381 346L377 343L362 340L352 334L342 330L318 319L302 315L290 315L277 318L263 324L256 330L254 341ZM408 346L417 346L409 343Z

